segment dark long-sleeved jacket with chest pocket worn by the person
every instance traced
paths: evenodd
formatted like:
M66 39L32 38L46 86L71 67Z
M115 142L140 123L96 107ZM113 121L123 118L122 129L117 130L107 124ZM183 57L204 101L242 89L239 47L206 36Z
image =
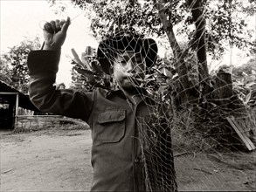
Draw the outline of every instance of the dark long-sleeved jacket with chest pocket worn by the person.
M155 102L139 96L128 98L121 90L107 91L97 88L89 93L71 89L57 90L53 85L58 72L59 57L60 51L30 52L29 94L31 101L42 112L85 120L89 124L93 139L92 191L154 189L152 184L146 185L150 178L145 174L147 153L143 153L142 145L147 144L140 140L139 130L151 127L149 121L153 120L151 114L155 112L154 107L149 106L154 106ZM147 131L145 133L149 136ZM152 144L147 145L148 149L150 145ZM157 147L155 149L158 150ZM173 168L171 150L169 155L167 163ZM150 161L148 164L150 165ZM175 190L175 173L171 173L170 177L171 183L167 185Z

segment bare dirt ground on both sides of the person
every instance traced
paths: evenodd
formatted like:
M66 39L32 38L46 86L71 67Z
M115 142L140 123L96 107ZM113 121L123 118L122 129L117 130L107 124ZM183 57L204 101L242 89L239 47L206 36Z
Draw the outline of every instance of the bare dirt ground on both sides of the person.
M1 191L88 191L90 130L1 132ZM256 152L174 151L180 191L255 191Z

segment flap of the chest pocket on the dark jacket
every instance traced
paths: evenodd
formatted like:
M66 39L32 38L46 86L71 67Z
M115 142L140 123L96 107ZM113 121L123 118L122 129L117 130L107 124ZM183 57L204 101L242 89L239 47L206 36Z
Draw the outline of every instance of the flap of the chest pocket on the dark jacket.
M102 112L98 116L99 123L107 123L121 121L125 119L125 111L107 111Z

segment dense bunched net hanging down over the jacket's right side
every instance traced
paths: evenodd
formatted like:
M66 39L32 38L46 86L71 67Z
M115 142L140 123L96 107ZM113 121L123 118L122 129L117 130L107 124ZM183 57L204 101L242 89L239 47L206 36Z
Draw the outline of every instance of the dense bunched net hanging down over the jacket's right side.
M170 125L164 117L142 120L140 141L148 191L175 191L176 173Z

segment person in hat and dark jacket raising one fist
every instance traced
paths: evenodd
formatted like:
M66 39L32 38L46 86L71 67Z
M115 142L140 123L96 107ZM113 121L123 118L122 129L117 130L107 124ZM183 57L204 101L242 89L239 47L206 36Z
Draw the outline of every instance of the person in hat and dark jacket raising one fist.
M43 112L88 123L93 139L92 191L176 191L170 128L165 124L160 131L159 127L153 126L152 121L160 122L162 118L151 117L156 114L156 107L152 107L155 101L147 97L147 92L141 87L147 68L156 61L155 40L133 36L129 31L118 31L112 38L100 42L98 60L104 72L113 74L118 89L95 88L89 93L58 90L52 85L69 25L69 17L46 23L42 49L30 52L27 65L31 101ZM157 133L161 134L161 139ZM153 142L147 144L152 138ZM160 142L162 144L154 144ZM161 151L163 146L168 146L166 151ZM153 156L150 151L161 153L163 157ZM157 170L155 167L161 162L166 165Z

